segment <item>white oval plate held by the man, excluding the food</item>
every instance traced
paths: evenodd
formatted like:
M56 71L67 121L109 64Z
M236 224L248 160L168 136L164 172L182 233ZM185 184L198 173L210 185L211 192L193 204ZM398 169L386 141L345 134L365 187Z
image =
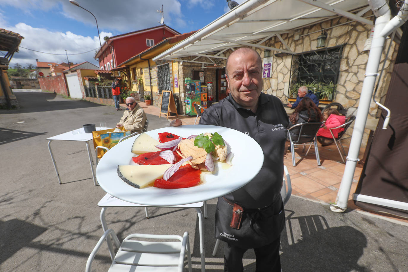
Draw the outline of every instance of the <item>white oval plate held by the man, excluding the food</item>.
M161 189L147 187L137 189L126 184L118 177L116 172L118 165L130 164L132 157L131 148L136 136L113 146L107 152L96 168L96 178L101 188L124 201L149 206L175 206L190 204L213 199L233 192L253 179L264 162L264 154L261 147L248 135L231 128L208 125L184 125L158 128L146 132L154 139L157 133L169 132L184 138L201 133L219 133L234 153L233 166L226 169L219 167L216 175L205 175L205 183L190 188Z

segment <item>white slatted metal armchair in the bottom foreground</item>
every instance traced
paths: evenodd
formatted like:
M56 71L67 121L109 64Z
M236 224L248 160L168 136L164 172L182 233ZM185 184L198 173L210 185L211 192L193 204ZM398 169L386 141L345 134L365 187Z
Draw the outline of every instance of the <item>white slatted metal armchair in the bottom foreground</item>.
M115 254L110 247L112 264L108 272L114 271L177 271L184 269L184 258L187 253L188 271L191 272L191 253L188 232L179 235L130 234L122 243L115 232L106 230L86 261L85 272L91 272L92 261L104 240L110 237L118 248ZM133 238L149 239L149 241L133 240ZM160 242L158 239L178 241ZM113 256L113 257L112 257ZM139 270L140 269L140 270Z

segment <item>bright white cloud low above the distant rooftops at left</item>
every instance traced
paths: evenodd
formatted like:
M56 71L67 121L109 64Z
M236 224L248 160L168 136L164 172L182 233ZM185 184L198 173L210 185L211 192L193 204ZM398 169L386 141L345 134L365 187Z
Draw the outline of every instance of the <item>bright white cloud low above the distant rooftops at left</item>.
M52 32L43 28L31 27L24 23L18 23L14 27L7 27L6 29L19 33L24 37L20 44L22 47L46 53L62 54L51 55L20 48L19 52L13 55L10 66L13 66L16 63L19 63L22 66L26 66L27 63L35 65L35 59L46 62L67 62L65 49L67 50L70 62L81 63L89 61L98 66L98 62L93 58L95 55L93 49L100 47L98 36L84 37L76 35L70 31L66 33L58 31ZM100 33L102 41L104 36L111 35L112 33L108 32ZM91 52L80 55L69 55L71 53L82 53L90 50Z

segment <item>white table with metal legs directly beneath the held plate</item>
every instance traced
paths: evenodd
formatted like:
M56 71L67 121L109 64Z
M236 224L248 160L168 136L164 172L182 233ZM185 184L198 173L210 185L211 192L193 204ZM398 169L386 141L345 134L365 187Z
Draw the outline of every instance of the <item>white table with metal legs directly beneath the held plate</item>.
M198 229L200 233L200 256L201 256L201 267L202 271L205 271L205 259L204 259L204 222L203 222L203 215L201 212L201 207L204 206L204 216L206 215L206 202L201 201L197 203L185 204L185 205L176 205L176 206L146 206L142 204L131 203L127 201L123 201L116 197L113 197L109 194L104 195L102 199L98 202L98 206L102 207L100 212L100 220L102 224L102 229L104 232L108 230L108 225L106 223L105 213L108 207L144 207L146 212L146 218L149 218L149 213L147 211L147 207L163 207L163 208L195 208L198 217ZM107 240L108 248L113 251L112 245L110 240ZM113 256L111 256L113 258Z

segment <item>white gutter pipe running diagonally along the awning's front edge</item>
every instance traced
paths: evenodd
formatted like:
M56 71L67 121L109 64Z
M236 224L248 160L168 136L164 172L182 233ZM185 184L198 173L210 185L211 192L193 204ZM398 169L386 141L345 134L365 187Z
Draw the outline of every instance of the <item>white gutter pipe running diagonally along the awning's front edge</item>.
M176 44L175 46L171 47L171 49L164 51L160 55L153 57L153 61L168 57L169 54L179 51L189 44L194 44L196 41L201 40L206 35L211 34L213 31L220 29L221 27L228 26L229 23L233 22L237 18L242 18L249 11L252 11L253 9L259 7L262 4L265 4L268 1L269 0L250 0L240 4L235 9L233 9L233 11L226 13L221 18L218 18L214 22L208 24L206 27L203 27L201 30L197 31L186 40Z

